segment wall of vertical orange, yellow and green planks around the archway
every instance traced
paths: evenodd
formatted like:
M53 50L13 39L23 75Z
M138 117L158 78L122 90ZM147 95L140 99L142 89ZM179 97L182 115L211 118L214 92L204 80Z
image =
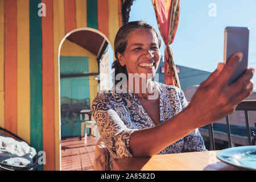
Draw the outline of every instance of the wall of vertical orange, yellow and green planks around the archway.
M39 3L46 5L46 16L39 16ZM61 169L61 40L69 31L91 27L114 45L119 26L119 0L0 0L0 126L46 152L40 170ZM90 72L97 69L96 61L89 63ZM92 100L94 77L89 84Z

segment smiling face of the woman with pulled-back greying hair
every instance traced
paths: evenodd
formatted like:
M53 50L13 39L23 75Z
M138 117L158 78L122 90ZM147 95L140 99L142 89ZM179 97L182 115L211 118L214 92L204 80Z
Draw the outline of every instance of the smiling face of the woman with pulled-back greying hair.
M125 51L118 53L120 64L126 65L127 73L144 73L147 78L154 77L160 61L158 38L154 31L140 28L131 32ZM147 75L148 73L151 74ZM142 76L143 77L143 76Z

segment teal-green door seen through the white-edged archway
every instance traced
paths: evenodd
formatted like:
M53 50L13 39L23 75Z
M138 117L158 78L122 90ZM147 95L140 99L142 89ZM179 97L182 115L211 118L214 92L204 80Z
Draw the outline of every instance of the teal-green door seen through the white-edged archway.
M62 63L62 66L61 66ZM60 57L60 74L88 72L88 57ZM89 77L60 79L61 138L81 135L80 110L90 109Z

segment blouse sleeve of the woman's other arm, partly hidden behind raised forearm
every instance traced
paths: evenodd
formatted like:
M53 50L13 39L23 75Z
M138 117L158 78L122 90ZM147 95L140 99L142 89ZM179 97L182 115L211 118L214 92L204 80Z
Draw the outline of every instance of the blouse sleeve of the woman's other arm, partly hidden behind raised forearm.
M180 103L182 109L187 107L188 102L184 96L183 91L180 89L179 92ZM196 129L184 137L184 145L182 152L193 152L193 151L207 151L204 145L204 139L201 136L199 129Z

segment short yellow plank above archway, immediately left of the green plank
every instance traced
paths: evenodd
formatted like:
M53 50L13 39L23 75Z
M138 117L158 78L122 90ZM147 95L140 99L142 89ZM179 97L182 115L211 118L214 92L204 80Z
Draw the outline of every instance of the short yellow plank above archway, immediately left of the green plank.
M76 28L87 27L86 0L76 0Z

